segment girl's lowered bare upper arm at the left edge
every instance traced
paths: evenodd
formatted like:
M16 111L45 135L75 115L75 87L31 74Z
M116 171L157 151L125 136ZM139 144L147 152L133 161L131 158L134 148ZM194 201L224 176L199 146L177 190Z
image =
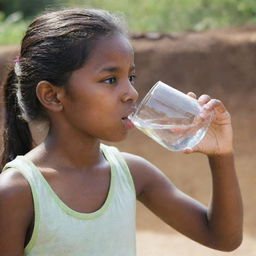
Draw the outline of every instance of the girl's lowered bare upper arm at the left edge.
M14 169L0 175L0 251L1 255L24 254L26 232L33 219L30 187Z

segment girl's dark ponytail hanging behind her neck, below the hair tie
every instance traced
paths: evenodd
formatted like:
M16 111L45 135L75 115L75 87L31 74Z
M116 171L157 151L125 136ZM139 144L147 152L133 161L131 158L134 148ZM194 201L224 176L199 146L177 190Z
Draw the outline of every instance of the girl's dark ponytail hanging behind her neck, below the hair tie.
M17 155L24 155L32 149L32 135L28 123L21 118L21 110L16 96L17 77L12 69L4 83L4 150L2 167Z

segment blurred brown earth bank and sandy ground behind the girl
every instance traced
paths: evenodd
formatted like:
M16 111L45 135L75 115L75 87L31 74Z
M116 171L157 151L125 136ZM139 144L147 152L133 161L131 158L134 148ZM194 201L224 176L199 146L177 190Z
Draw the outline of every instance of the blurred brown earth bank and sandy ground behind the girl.
M232 115L235 157L244 200L244 240L239 249L223 253L178 234L138 204L138 255L256 256L256 27L203 33L133 35L137 90L142 98L158 80L183 92L221 99ZM0 48L0 81L16 46ZM137 130L114 144L145 157L161 168L184 192L207 204L211 180L207 159L200 154L170 152Z

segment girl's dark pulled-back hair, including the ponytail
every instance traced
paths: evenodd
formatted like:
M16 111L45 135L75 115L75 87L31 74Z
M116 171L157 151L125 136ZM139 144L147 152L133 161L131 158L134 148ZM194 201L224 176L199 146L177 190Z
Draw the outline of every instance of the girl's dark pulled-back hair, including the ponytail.
M47 119L36 86L65 86L88 59L95 41L126 35L122 20L102 10L68 9L43 14L28 27L20 56L4 84L5 125L2 165L32 149L28 122Z

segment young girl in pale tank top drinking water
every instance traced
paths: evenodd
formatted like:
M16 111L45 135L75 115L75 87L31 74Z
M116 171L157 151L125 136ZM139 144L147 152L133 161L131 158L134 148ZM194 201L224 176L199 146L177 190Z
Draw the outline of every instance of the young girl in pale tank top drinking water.
M184 150L209 158L209 207L145 159L101 144L133 127L134 55L122 27L105 11L84 9L44 14L28 27L4 87L1 255L134 256L136 199L205 246L241 243L231 121L219 100L198 99L214 120L202 143ZM39 145L33 122L49 126Z

